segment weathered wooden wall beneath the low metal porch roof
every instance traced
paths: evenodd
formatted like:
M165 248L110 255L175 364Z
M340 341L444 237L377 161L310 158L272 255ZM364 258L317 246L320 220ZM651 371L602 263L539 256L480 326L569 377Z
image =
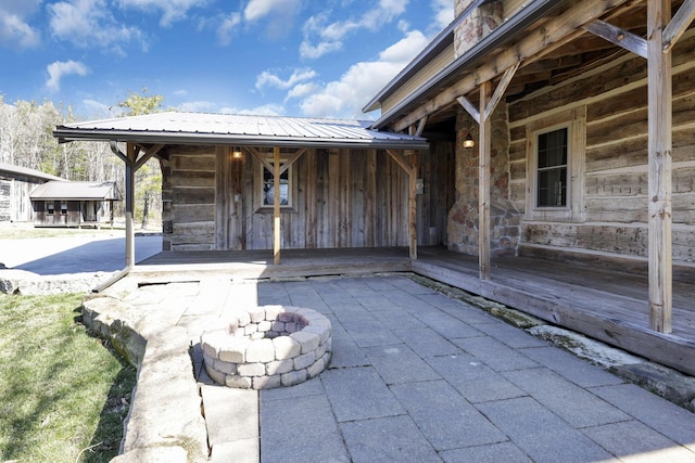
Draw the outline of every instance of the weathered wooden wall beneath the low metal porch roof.
M453 196L453 147L419 154L419 244L442 244ZM163 162L164 248L273 248L273 208L260 207L260 162L227 147L170 146ZM291 166L291 209L281 247L408 245L408 176L383 151L307 150ZM448 179L448 180L447 180ZM447 184L448 182L448 184Z

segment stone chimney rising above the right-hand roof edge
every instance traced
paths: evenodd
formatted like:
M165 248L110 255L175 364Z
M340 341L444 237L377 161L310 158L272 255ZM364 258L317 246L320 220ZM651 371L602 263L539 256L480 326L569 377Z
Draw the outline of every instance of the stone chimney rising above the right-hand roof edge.
M458 17L475 0L454 0L454 14ZM454 33L456 57L463 55L488 34L502 24L504 1L496 0L473 10L460 22Z

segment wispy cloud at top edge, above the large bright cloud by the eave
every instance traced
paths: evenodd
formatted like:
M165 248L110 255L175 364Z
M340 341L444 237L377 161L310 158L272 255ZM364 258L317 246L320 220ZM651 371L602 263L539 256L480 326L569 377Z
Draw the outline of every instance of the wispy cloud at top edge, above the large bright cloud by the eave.
M329 12L312 16L304 23L304 40L300 46L300 55L303 59L317 59L340 50L346 36L359 29L377 31L403 14L407 4L408 0L380 0L377 7L367 10L357 20L336 21L330 24Z

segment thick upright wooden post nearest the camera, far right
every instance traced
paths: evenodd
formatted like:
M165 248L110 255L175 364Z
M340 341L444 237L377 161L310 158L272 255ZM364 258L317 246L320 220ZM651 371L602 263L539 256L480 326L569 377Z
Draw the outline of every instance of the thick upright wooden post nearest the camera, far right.
M648 92L648 256L649 327L670 333L671 267L671 52L664 53L664 28L671 16L671 0L647 2Z

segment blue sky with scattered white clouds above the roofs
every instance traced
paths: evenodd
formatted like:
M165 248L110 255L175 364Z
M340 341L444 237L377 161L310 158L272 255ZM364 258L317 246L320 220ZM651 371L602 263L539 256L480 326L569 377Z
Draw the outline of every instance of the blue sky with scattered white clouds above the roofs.
M205 113L376 119L362 108L454 0L0 0L0 97L81 120L128 94Z

